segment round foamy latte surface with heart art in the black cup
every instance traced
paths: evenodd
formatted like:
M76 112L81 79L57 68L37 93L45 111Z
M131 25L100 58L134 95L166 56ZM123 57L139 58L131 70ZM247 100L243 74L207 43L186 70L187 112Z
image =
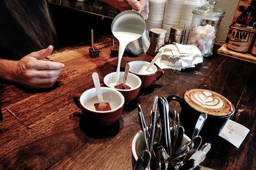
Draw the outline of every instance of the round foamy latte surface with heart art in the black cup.
M205 89L192 89L184 94L184 100L191 108L214 116L230 115L234 106L227 98Z

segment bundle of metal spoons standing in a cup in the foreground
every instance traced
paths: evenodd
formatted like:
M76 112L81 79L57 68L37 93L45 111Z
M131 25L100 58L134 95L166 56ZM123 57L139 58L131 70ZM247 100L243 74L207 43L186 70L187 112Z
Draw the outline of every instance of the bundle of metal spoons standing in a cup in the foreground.
M206 153L211 149L210 143L205 143L200 148L202 138L198 134L207 119L205 113L198 118L191 140L183 144L184 127L180 125L179 114L176 111L173 114L170 112L166 98L154 97L148 125L140 104L138 117L146 148L141 152L134 169L193 169L205 159Z

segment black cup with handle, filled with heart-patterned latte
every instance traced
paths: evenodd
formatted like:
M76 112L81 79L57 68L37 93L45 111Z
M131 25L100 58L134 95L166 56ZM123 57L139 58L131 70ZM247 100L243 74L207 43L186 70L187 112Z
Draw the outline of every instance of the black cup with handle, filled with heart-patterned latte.
M199 135L203 139L213 139L221 132L228 119L234 114L233 104L224 96L211 90L191 89L184 93L183 98L169 96L168 102L178 101L182 108L180 121L186 134L191 137L201 113L207 114Z

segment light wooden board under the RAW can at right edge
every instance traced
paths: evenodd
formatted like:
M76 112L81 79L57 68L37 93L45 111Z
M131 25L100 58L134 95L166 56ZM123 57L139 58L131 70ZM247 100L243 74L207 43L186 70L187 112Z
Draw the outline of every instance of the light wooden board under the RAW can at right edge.
M227 43L223 44L219 49L218 53L221 55L226 55L228 57L233 57L240 60L245 60L248 62L252 62L256 64L256 57L253 56L251 53L240 53L240 52L234 52L232 50L229 50L227 48Z

